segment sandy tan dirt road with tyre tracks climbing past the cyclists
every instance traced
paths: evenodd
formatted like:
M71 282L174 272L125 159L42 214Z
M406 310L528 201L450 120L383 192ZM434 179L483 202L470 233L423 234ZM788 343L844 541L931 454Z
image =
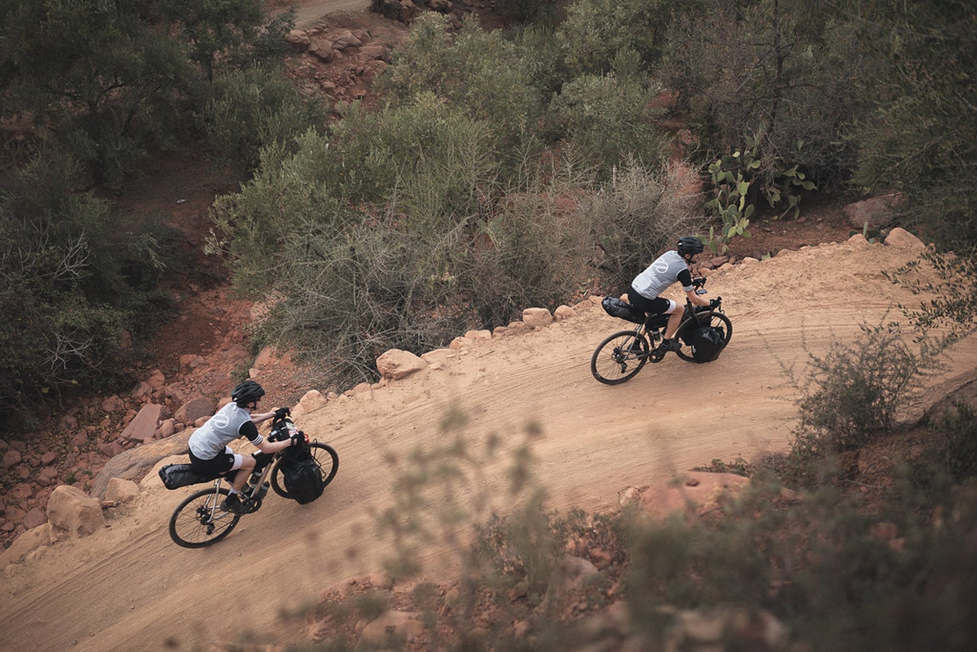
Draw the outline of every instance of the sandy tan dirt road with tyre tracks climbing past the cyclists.
M707 287L723 296L734 324L722 357L692 365L668 356L616 387L597 383L588 369L595 345L623 324L596 305L565 322L446 353L429 369L306 415L300 425L339 452L334 483L309 505L271 498L209 549L170 542L169 513L191 490L167 492L150 478L105 531L41 548L4 571L0 649L185 649L238 641L247 631L305 642L304 621L282 621L282 610L378 570L390 548L375 525L392 504L388 456L406 464L415 447L442 442L450 406L467 414L471 441L497 434L502 456L536 422L543 436L533 479L556 508L612 507L629 485L716 457L783 449L795 397L783 367L802 364L808 350L824 351L832 335L854 336L861 322L901 317L885 315L895 302L919 299L880 272L912 257L863 240L716 272ZM966 340L943 378L975 367L977 342ZM504 507L500 465L486 469L478 489Z

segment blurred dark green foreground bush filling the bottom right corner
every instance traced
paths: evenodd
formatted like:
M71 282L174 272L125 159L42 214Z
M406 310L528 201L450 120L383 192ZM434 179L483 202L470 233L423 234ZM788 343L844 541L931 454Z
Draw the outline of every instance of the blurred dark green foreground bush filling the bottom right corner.
M977 640L965 596L977 579L968 540L977 500L959 492L953 523L902 504L868 513L823 489L776 506L779 489L760 486L728 501L723 514L692 524L637 520L627 547L630 622L653 640L674 626L675 608L763 609L789 643L817 650L918 650L934 641L968 649ZM727 649L754 649L748 634L722 632ZM752 642L752 645L750 644Z

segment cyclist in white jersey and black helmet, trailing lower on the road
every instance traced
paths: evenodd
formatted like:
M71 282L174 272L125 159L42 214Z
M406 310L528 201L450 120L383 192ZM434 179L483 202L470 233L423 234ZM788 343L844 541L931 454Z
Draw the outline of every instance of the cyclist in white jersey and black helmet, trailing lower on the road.
M247 510L238 495L255 465L254 457L234 453L228 444L246 437L263 453L271 454L306 441L301 432L282 442L270 442L261 436L257 424L276 415L274 412L254 413L264 395L261 385L254 380L245 380L231 391L231 403L218 410L190 436L190 461L196 468L207 473L241 469L234 476L231 495L221 503L221 509L225 511L239 514Z

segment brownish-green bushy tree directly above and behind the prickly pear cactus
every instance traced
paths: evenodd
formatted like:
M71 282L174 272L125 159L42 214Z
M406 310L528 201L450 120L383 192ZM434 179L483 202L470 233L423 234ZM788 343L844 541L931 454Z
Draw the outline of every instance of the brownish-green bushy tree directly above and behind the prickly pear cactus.
M759 164L748 203L762 196L783 211L799 190L785 178L794 166L822 189L850 173L856 146L843 136L868 100L852 80L878 70L854 31L800 0L723 0L672 23L658 76L677 93L707 160L752 151Z

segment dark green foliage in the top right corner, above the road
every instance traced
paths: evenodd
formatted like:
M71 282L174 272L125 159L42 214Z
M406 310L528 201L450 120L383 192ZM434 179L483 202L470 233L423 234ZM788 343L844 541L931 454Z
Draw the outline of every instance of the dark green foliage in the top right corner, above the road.
M852 125L861 192L912 198L901 221L957 254L977 245L977 17L966 3L879 5L854 22L879 62L871 105Z

